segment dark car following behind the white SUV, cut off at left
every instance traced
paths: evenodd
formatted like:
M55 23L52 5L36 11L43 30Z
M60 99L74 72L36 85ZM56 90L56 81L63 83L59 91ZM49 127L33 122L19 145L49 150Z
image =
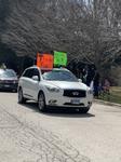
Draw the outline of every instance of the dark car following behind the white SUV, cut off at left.
M0 69L0 91L17 91L18 79L14 70Z

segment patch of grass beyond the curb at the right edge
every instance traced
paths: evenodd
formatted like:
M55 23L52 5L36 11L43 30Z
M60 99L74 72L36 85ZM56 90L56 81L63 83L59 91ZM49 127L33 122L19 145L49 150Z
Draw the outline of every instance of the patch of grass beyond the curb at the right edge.
M110 94L100 94L98 99L121 104L121 86L111 86Z

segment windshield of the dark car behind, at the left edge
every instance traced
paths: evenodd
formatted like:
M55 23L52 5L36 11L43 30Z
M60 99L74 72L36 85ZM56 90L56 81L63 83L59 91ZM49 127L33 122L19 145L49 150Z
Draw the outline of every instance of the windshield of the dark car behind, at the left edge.
M16 73L13 70L1 70L0 77L2 78L13 78L16 77Z

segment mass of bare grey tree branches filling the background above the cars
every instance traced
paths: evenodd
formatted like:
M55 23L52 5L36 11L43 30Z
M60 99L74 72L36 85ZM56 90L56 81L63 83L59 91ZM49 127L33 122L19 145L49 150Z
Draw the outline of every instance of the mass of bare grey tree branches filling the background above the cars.
M17 55L66 51L69 59L84 59L98 68L120 56L120 1L13 0L8 5L1 40Z

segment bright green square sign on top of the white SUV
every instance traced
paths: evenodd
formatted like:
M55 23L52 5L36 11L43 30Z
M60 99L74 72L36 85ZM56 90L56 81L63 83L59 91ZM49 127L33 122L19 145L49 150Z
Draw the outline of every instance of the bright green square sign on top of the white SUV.
M54 66L66 66L67 53L54 51Z

